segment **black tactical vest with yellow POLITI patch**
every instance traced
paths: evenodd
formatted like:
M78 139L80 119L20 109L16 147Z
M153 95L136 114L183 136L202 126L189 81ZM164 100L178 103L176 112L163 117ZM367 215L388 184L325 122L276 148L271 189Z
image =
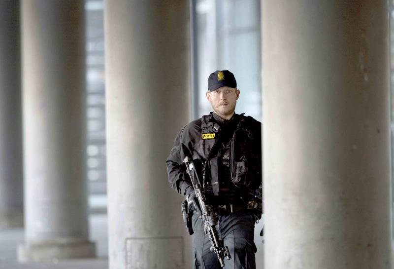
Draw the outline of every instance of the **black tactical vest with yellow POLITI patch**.
M253 192L259 189L262 180L261 131L255 130L253 133L252 124L258 126L257 121L252 117L238 115L236 128L228 144L230 146L229 171L226 170L228 173L225 173L221 166L224 162L228 162L228 154L223 154L222 130L212 114L202 116L202 137L197 145L197 152L203 162L202 178L207 193L211 192L215 196L219 194L239 196L240 190ZM226 181L230 181L233 188L221 188L222 184L228 186L225 184Z

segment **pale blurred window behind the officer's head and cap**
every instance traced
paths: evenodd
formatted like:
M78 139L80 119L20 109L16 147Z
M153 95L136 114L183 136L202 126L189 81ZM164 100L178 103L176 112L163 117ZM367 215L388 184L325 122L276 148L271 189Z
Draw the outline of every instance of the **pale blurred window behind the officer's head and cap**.
M193 117L212 108L205 98L215 70L230 70L241 91L236 113L262 120L260 0L192 0Z

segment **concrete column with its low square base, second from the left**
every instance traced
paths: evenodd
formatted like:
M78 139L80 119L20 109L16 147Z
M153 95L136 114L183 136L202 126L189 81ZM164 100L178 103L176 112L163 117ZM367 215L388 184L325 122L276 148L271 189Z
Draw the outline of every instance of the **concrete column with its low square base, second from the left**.
M25 244L20 261L92 257L83 0L23 0Z

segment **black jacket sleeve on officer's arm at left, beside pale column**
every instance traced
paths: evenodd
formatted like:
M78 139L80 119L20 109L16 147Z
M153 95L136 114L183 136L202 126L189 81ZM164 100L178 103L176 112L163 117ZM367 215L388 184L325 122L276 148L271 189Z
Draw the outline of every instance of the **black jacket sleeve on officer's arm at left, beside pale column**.
M192 186L189 175L186 172L186 165L183 163L183 159L186 154L188 154L185 153L186 149L182 146L182 135L185 127L183 127L176 136L174 146L165 161L167 165L168 183L172 189L182 195L185 195L185 190L189 186Z

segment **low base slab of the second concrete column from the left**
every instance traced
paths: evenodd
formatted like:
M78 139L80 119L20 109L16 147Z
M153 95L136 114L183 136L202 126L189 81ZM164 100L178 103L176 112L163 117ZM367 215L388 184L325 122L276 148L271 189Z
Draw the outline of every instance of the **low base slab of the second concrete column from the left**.
M18 245L18 262L20 263L95 257L96 244L88 240L74 242L51 240Z

